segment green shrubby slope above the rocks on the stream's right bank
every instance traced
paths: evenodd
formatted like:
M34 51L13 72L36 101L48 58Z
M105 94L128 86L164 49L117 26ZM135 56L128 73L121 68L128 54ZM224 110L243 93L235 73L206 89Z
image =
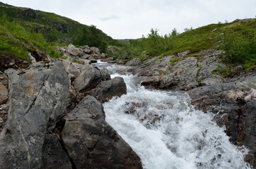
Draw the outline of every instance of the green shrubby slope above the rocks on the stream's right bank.
M255 68L255 32L256 19L211 24L197 29L191 27L182 34L173 29L164 36L158 35L158 30L151 29L149 35L143 36L141 40L130 40L113 56L122 60L146 60L187 50L190 51L189 56L198 56L200 51L215 47L226 51L226 54L220 56L226 63L242 63L245 68ZM171 63L175 63L175 60Z

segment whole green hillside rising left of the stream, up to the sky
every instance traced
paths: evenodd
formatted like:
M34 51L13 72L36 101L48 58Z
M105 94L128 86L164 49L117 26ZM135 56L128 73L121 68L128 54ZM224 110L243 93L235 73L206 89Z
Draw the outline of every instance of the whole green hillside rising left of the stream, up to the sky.
M112 38L94 25L88 26L54 13L10 6L0 2L0 56L27 60L28 51L39 49L53 58L54 46L97 46L102 51Z

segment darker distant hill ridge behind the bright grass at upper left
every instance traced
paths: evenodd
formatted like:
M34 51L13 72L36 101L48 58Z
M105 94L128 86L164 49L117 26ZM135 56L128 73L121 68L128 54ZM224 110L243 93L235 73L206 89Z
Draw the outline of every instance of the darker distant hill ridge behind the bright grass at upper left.
M56 29L62 34L59 37L66 43L73 42L76 37L82 34L83 30L89 30L90 27L55 13L11 6L0 2L0 17L4 14L9 19L21 21L21 24L24 26L33 27L35 32L42 30L50 32L50 30ZM112 37L107 36L101 30L98 31L100 39L105 41L112 40Z

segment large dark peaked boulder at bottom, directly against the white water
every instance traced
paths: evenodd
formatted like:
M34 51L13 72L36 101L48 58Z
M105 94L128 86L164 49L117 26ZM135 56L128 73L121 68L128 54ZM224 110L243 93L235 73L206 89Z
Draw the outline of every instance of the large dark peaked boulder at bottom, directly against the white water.
M103 106L93 96L66 116L62 139L78 169L142 168L140 158L105 122Z

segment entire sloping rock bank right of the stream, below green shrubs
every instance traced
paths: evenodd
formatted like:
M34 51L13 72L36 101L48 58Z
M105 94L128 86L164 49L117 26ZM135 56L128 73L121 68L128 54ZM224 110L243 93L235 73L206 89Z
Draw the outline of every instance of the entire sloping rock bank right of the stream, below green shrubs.
M192 105L215 114L216 123L226 127L233 144L250 149L245 161L255 166L255 70L245 73L237 66L231 70L237 75L223 77L220 71L226 65L218 58L222 51L209 49L197 56L188 53L151 58L144 63L134 59L126 64L134 65L128 71L146 88L187 91Z

